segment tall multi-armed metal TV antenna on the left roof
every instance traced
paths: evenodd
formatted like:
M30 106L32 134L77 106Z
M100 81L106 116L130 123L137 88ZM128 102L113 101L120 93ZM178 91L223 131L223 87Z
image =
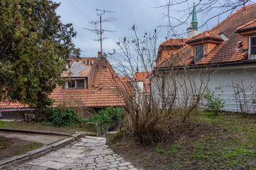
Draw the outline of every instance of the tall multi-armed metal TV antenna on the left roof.
M102 15L104 15L105 13L114 13L114 11L107 11L107 10L103 10L103 9L98 9L96 8L97 11L97 16L100 16L100 20L99 21L91 21L89 23L91 23L94 26L97 26L97 24L100 24L100 29L88 29L88 28L84 28L85 30L90 30L92 33L97 33L97 35L100 35L100 39L95 39L95 41L100 41L100 57L102 57L102 40L105 40L106 38L102 38L102 34L104 32L117 32L114 30L103 30L102 29L102 23L107 23L107 22L111 22L111 21L116 21L118 20L117 18L106 18L106 19L102 19Z

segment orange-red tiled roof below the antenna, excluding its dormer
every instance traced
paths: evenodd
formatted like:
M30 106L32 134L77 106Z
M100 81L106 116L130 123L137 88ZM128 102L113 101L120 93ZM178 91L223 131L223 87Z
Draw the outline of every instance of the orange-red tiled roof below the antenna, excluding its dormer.
M82 60L87 60L87 58L82 58ZM65 89L63 86L57 86L50 94L50 98L55 100L54 105L88 108L124 106L124 97L119 91L119 87L123 84L110 62L106 58L102 60L90 58L89 60L95 61L89 89Z

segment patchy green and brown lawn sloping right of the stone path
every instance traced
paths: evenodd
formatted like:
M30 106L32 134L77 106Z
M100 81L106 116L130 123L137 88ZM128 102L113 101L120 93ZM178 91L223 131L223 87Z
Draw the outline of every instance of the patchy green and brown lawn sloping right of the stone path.
M143 169L256 169L256 119L199 113L188 131L169 142L142 146L133 137L111 146Z

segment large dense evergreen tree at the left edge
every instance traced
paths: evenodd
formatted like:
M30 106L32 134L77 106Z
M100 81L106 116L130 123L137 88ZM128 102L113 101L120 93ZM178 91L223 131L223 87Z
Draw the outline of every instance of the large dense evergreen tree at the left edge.
M50 0L0 1L0 101L43 106L69 57L79 57L72 24L60 22Z

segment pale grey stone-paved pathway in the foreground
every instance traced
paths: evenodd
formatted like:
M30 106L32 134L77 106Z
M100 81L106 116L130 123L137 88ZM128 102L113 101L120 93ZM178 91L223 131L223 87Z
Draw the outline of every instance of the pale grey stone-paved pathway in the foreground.
M50 169L87 169L87 170L135 170L130 162L126 162L112 149L105 145L102 137L80 137L56 151L30 159L26 162L9 167L11 170L50 170Z

